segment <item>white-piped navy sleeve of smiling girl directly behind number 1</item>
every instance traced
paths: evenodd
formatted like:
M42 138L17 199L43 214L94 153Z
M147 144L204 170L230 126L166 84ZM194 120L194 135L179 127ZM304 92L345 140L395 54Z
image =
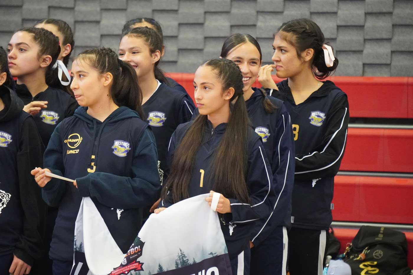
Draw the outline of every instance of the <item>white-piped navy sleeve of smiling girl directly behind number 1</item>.
M275 229L282 225L285 216L290 214L291 195L294 185L294 137L290 115L284 104L280 109L273 134L274 151L272 156L275 203L272 212L266 218L256 221L252 230L251 241L259 246Z

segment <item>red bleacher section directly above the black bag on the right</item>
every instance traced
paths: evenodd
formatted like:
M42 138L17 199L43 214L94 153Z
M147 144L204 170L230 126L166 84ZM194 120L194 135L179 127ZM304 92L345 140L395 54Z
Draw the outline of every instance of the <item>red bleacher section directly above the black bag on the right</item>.
M413 224L411 194L413 178L337 175L333 220Z

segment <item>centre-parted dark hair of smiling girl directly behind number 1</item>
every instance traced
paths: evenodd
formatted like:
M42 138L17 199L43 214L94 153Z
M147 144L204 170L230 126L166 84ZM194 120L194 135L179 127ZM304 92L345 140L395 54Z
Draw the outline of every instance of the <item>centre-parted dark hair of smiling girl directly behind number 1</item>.
M222 45L220 56L223 58L226 58L230 52L232 52L233 50L237 49L238 47L240 47L241 45L247 42L251 43L252 45L256 47L256 49L259 52L259 60L262 61L262 52L261 52L261 47L259 46L258 41L251 35L244 34L244 33L234 33L233 35L228 36L227 39L225 39L224 44ZM265 111L268 114L273 113L276 107L271 102L271 100L267 98L267 93L265 92L265 90L263 89L259 89L259 90L264 96L263 105L264 105Z

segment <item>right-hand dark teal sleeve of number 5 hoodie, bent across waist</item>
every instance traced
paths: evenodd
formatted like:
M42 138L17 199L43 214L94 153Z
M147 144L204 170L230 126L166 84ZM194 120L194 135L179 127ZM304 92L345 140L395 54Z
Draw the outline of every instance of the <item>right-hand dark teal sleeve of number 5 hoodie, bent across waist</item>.
M95 198L109 207L135 209L152 206L161 190L157 167L155 137L148 127L134 150L132 177L95 172L77 178L76 183L82 197Z

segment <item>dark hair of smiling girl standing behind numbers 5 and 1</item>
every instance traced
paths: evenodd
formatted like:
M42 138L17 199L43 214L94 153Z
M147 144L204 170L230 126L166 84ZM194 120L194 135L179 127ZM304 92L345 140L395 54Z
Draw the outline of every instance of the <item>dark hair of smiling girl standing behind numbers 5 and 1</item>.
M148 28L148 27L133 28L123 33L122 37L123 36L134 36L136 38L141 38L145 40L145 43L148 45L151 54L157 50L159 50L159 52L162 52L163 43L161 40L161 36L159 36L158 32L152 28ZM159 58L159 60L154 65L155 78L159 80L160 82L163 82L166 85L169 85L169 81L168 79L166 79L164 72L158 67L158 64L160 61L161 61L161 58Z

